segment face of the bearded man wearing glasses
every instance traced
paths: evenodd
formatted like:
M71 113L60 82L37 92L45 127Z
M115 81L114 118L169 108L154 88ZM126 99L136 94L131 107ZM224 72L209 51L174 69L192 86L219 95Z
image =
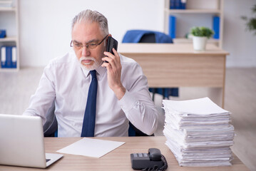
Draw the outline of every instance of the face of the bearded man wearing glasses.
M103 38L106 35L101 33L101 30L98 26L98 23L76 23L73 26L72 30L72 41L73 41L73 49L76 53L76 57L78 61L80 61L81 66L86 70L94 70L101 66L103 61L101 58L104 57L103 52L105 51L106 47ZM93 43L100 43L95 48L90 48L89 46L84 46L86 44L93 44ZM79 47L80 48L77 48Z

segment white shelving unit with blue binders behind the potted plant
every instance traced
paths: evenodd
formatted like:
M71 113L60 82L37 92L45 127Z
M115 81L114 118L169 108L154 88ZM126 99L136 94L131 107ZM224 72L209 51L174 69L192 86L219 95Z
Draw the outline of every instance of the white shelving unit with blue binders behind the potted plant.
M213 16L220 17L220 38L210 38L208 43L213 43L222 48L223 38L223 1L224 0L187 0L186 9L170 9L170 0L165 0L164 9L164 32L169 34L169 16L176 17L176 38L173 38L174 43L192 43L191 39L185 38L185 33L190 31L192 26L205 26L212 28ZM188 19L189 21L185 21ZM200 21L198 21L198 19ZM178 23L180 21L180 23ZM195 25L193 25L193 21ZM199 25L200 24L200 25ZM184 28L185 27L185 28ZM183 30L183 33L178 31ZM180 35L181 34L181 35Z

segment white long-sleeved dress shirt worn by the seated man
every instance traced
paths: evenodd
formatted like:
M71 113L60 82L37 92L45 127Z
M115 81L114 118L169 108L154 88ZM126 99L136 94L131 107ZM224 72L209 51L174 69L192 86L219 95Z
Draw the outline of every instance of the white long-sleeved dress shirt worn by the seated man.
M121 54L121 82L126 93L121 100L108 86L107 70L99 66L95 136L128 136L129 120L148 135L157 128L158 114L150 98L148 81L133 59ZM58 137L80 137L86 109L91 74L83 70L73 51L53 59L31 96L24 115L39 115L46 123L46 113L55 103Z

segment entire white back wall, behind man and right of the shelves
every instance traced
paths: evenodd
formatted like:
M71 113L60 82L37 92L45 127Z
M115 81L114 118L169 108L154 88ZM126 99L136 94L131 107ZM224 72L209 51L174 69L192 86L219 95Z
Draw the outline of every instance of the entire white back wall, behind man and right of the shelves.
M188 0L190 1L190 0ZM240 16L251 14L255 0L225 0L223 48L227 66L256 66L256 36L245 31ZM163 0L20 0L21 66L46 66L69 51L71 20L84 9L108 18L109 31L119 42L128 29L163 31Z

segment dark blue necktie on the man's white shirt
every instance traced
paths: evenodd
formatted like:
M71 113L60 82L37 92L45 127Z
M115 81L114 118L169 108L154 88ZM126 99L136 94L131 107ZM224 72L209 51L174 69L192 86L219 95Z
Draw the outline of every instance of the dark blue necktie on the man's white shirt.
M90 71L91 73L91 84L89 87L86 111L83 117L83 128L81 137L94 137L95 128L95 117L96 117L96 98L98 81L96 77L96 71Z

